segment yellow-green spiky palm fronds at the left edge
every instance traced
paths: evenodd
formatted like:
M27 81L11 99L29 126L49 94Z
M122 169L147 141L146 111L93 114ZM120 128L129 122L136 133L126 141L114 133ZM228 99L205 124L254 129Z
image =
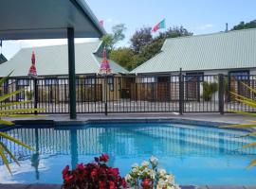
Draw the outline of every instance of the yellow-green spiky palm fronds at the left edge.
M11 72L12 73L12 72ZM11 74L10 73L10 74ZM10 74L7 77L3 77L0 79L0 87L8 80ZM9 97L15 95L15 94L20 94L23 93L25 89L20 89L15 92L11 92L9 94L3 94L0 95L0 125L6 125L6 126L13 126L14 123L11 121L2 119L3 117L31 117L31 116L38 116L38 115L32 115L32 114L18 114L19 112L34 112L34 111L43 111L44 109L7 109L9 107L15 106L15 105L20 105L20 104L25 104L30 102L29 100L27 101L22 101L22 102L7 102L3 103L6 99L9 99ZM5 110L3 110L5 108ZM27 146L26 144L22 143L21 141L15 139L14 137L9 136L5 132L0 131L0 137L5 138L15 144L18 144L20 146L27 147L30 150L33 150L30 146ZM13 160L15 163L20 165L18 161L15 159L14 155L9 151L9 148L0 140L0 157L3 160L3 163L5 163L6 167L9 170L9 173L11 173L10 168L9 168L9 161L7 158L7 155L9 155L9 158Z

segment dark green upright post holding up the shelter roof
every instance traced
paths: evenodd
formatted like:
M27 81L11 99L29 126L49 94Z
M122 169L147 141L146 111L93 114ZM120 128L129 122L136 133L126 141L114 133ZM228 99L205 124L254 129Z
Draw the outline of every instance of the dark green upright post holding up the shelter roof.
M74 28L67 27L68 45L68 81L69 81L69 113L70 119L77 118L76 112L76 71L75 71L75 42Z

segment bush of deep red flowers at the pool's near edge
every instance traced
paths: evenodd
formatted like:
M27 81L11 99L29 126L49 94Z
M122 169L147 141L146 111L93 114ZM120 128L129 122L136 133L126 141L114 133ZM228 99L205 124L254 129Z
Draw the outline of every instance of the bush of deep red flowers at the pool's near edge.
M109 157L102 154L94 163L77 164L74 170L65 166L63 170L63 189L121 189L126 181L119 176L119 169L106 165Z

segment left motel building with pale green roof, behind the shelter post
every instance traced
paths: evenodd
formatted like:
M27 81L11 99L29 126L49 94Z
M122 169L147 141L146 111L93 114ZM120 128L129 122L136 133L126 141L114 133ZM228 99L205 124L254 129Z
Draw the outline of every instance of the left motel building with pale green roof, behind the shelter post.
M128 73L113 60L107 60L110 66L108 76L100 74L103 59L103 43L76 43L76 99L82 101L117 100L125 88L125 80L120 76ZM31 55L35 54L37 70L38 100L40 102L68 102L68 60L67 45L22 48L13 58L0 64L0 77L6 77L13 71L9 81L2 86L0 93L7 93L21 88L27 91L17 94L12 100L30 100L34 93L34 79L27 77L31 66ZM114 79L116 77L116 79ZM118 77L118 78L117 78ZM106 82L105 82L106 80ZM106 92L106 91L107 92ZM119 91L119 93L114 93ZM10 99L11 100L11 99Z

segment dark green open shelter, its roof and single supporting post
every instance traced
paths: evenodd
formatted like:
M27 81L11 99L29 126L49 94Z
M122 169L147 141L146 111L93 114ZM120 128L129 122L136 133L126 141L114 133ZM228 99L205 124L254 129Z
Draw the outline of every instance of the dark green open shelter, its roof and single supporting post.
M0 18L0 40L67 39L69 111L70 118L76 119L74 38L100 38L105 34L85 1L1 0Z

